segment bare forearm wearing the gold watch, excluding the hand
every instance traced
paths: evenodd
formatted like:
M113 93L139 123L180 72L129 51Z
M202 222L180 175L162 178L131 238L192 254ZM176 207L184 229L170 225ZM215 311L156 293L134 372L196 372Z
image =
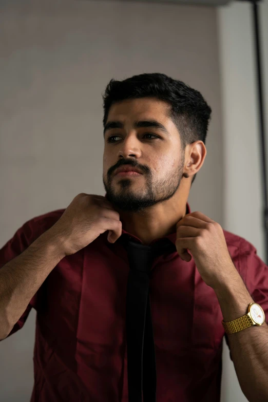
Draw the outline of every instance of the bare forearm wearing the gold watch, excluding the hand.
M223 320L232 321L246 314L249 303L254 303L239 273L234 272L226 284L214 288ZM228 334L240 387L250 402L268 402L268 327L252 326Z

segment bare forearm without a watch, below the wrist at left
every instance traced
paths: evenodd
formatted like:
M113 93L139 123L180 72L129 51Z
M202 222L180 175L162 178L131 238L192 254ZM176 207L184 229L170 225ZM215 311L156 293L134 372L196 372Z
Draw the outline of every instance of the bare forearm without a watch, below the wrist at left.
M63 257L61 243L54 232L48 230L0 269L0 338L9 334Z

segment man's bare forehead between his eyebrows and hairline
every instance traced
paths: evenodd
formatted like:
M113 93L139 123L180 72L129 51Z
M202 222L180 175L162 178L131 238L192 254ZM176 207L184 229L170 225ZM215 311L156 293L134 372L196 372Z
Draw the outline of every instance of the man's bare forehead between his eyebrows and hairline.
M127 99L111 105L107 121L109 120L142 120L153 118L167 122L169 104L154 98Z

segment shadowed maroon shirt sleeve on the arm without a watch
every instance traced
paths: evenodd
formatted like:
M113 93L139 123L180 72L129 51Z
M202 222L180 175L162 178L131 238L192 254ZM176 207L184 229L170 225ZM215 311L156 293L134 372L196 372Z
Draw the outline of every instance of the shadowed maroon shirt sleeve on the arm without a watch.
M0 270L1 268L11 261L13 258L17 257L23 253L26 248L37 238L39 234L35 234L35 226L31 221L24 223L24 225L17 229L14 236L7 241L6 244L0 250ZM35 237L34 237L35 234ZM35 293L35 295L30 300L25 312L15 323L12 331L8 336L14 334L14 332L20 330L31 311L32 308L36 310L37 308L37 294L40 294L40 289Z

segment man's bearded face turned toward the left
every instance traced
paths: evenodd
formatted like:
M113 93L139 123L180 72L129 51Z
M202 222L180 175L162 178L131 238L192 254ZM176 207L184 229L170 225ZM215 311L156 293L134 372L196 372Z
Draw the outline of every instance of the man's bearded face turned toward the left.
M176 193L183 174L184 152L178 129L167 116L168 104L153 98L130 99L111 106L104 135L103 183L107 199L117 208L142 213ZM163 128L142 127L154 120ZM117 122L111 124L111 122ZM115 175L122 165L142 174Z

